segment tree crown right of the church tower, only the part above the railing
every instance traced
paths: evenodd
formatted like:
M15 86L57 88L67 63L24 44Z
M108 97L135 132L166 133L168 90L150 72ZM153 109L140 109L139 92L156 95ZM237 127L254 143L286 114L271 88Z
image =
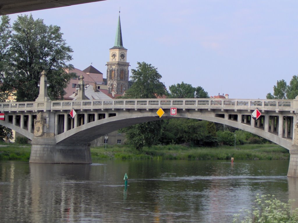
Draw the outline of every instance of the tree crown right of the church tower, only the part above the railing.
M125 98L157 98L167 94L166 87L160 81L162 76L157 68L145 62L137 62L137 69L131 69L133 84L126 90Z

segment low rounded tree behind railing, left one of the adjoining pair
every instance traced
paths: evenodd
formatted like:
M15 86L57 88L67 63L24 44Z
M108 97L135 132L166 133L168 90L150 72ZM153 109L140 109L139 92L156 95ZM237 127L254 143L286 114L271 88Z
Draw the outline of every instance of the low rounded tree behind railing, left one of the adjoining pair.
M170 98L194 98L195 88L183 81L181 84L173 84L169 87Z

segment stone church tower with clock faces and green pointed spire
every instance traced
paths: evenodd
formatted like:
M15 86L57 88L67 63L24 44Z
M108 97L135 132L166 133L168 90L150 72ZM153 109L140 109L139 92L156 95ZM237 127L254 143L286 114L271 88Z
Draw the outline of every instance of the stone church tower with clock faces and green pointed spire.
M123 94L128 88L128 66L126 62L127 49L123 47L120 12L116 31L115 44L110 48L110 61L107 62L108 93Z

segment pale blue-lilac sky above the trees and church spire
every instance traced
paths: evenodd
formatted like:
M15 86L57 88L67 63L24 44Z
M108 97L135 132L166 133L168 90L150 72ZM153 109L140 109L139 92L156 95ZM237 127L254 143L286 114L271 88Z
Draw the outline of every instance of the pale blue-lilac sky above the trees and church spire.
M106 0L23 14L60 26L71 63L92 62L106 78L119 7L130 69L152 64L167 89L183 81L212 96L265 99L298 75L297 0Z

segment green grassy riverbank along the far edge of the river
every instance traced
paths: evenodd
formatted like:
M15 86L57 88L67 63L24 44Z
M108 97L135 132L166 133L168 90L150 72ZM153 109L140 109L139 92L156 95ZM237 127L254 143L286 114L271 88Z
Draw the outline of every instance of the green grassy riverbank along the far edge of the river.
M0 145L1 160L29 161L30 145L18 145L10 143ZM144 147L138 152L127 145L114 145L92 147L92 161L100 160L145 160L145 159L184 159L184 160L287 160L290 155L288 150L275 144L246 144L218 147L187 147L181 145Z

